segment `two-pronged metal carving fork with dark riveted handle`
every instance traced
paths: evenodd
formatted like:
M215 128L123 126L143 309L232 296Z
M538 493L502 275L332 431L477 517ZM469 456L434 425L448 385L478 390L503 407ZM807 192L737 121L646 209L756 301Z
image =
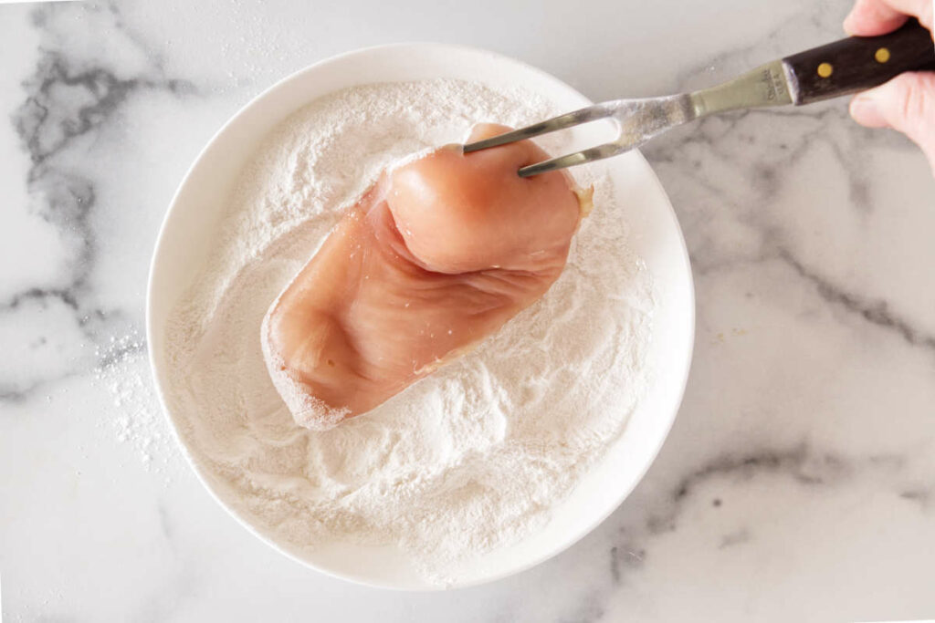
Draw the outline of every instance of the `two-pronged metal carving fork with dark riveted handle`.
M918 21L881 36L852 36L820 48L760 65L724 84L701 91L624 99L588 106L504 135L464 146L465 153L489 149L600 119L617 120L616 140L591 149L530 164L529 177L590 163L640 147L654 136L688 121L726 110L759 106L801 106L863 91L906 72L935 70L932 35Z

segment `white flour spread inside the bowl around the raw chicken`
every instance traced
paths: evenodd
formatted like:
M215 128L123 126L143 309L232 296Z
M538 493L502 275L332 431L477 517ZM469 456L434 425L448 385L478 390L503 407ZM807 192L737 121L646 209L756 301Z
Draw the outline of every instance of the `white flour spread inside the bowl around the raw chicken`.
M552 290L369 414L297 426L261 353L269 304L384 167L460 142L477 121L554 113L529 93L455 80L357 87L295 112L242 171L173 313L166 399L211 487L281 548L397 545L425 578L453 582L542 526L623 431L647 382L652 279L609 180L583 171L596 207ZM560 153L561 140L541 144Z

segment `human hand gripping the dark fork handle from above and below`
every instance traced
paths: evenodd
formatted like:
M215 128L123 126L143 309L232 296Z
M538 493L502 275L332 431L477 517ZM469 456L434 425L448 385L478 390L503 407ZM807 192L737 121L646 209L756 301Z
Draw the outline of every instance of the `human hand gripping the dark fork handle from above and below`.
M844 20L850 35L885 35L910 16L932 30L933 0L857 0ZM935 45L935 43L933 43ZM869 128L892 128L925 152L935 174L935 72L906 72L851 100L851 117Z

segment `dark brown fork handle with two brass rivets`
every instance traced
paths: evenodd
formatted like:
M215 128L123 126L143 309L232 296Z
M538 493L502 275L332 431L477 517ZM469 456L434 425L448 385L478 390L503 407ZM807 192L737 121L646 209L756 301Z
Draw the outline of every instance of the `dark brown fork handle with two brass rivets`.
M864 91L906 71L935 70L935 43L913 19L888 35L850 36L786 56L783 64L799 106Z

